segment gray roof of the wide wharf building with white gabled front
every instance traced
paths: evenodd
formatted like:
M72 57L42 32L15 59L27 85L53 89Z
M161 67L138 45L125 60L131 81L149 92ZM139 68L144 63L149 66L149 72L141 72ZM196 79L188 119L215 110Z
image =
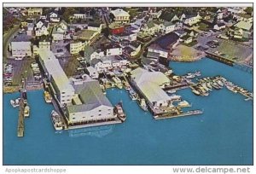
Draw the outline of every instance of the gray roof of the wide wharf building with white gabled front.
M90 111L96 107L113 107L108 98L102 93L102 89L97 80L88 80L83 84L74 85L75 93L79 94L79 99L83 104L68 106L69 113Z

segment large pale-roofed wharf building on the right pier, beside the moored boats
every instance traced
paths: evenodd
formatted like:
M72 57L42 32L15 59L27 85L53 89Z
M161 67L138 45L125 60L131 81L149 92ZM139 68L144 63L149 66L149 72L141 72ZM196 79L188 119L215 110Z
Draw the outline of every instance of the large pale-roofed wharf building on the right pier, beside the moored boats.
M136 86L152 107L169 107L172 104L171 97L162 89L165 85L170 84L170 79L164 73L148 72L137 67L131 71L131 83Z

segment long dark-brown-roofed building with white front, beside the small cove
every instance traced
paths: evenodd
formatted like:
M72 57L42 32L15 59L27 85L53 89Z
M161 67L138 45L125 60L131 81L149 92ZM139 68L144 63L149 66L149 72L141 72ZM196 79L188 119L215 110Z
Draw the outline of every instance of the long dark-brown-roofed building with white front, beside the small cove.
M179 43L179 36L175 32L169 32L168 34L157 38L152 42L149 47L149 52L159 53L160 57L167 58L169 52L177 46Z

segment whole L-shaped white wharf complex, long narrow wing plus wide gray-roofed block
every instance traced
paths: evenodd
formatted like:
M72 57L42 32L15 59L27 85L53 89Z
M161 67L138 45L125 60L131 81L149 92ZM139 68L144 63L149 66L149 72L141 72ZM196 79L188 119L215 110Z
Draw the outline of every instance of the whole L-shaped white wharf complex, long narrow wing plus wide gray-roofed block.
M38 55L69 127L120 122L97 80L87 75L68 79L53 52L42 49Z

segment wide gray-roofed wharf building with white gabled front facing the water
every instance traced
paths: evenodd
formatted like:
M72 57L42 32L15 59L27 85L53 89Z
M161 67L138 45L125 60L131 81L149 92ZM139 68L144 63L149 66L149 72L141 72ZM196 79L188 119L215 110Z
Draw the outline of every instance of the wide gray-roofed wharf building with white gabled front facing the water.
M107 123L117 119L113 105L102 93L97 80L85 76L84 79L71 79L75 89L72 105L64 107L69 127L83 126L87 123Z

